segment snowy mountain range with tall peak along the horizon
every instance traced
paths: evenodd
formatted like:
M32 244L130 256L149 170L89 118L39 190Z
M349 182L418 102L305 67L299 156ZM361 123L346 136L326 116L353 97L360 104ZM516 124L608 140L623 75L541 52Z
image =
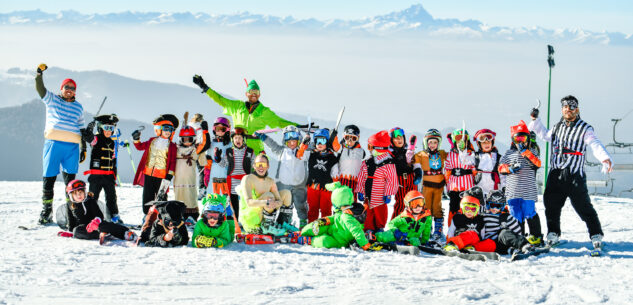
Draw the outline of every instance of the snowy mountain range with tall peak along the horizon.
M207 26L234 30L341 33L345 35L413 35L438 39L492 41L546 41L580 44L633 45L633 35L621 32L595 32L581 28L546 29L542 27L491 26L478 20L434 18L422 4L385 15L361 19L318 20L292 16L239 12L235 14L163 13L124 11L107 14L83 14L73 10L48 13L41 10L0 14L0 25L87 25L87 26Z

